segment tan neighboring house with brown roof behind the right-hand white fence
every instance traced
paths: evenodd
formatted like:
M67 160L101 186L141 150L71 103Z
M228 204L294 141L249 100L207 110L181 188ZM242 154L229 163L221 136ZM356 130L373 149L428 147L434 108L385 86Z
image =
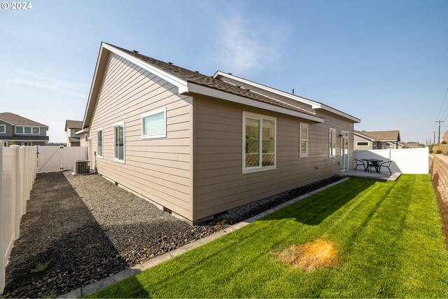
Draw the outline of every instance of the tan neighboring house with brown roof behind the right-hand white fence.
M400 131L356 131L354 130L353 149L375 150L386 148L402 148L399 144Z

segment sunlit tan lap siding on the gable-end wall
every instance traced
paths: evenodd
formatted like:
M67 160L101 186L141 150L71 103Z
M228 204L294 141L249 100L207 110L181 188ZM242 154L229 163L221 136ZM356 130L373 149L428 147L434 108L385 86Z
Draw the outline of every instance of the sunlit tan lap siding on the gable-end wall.
M190 97L177 94L171 83L135 64L111 55L106 66L90 136L97 151L103 128L100 174L168 209L193 220L190 194ZM167 107L167 137L141 138L141 114ZM125 163L113 161L113 124L125 121Z

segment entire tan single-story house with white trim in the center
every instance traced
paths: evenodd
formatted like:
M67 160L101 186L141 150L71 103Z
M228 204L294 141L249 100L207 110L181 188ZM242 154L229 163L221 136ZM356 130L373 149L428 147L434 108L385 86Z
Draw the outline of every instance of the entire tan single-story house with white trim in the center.
M78 134L99 174L197 223L351 168L359 122L232 74L102 43Z

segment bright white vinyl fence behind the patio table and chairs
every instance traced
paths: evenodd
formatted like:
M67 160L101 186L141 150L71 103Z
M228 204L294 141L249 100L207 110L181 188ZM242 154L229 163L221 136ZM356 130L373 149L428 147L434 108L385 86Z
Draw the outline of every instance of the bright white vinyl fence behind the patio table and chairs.
M355 150L353 159L392 160L391 171L402 174L428 174L429 172L428 148ZM353 165L355 165L354 162Z

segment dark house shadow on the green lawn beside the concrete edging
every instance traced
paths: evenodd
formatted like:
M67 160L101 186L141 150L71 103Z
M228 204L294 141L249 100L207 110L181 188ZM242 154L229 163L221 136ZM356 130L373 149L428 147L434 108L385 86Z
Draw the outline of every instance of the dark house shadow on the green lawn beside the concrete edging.
M384 182L372 179L350 179L328 190L323 190L316 195L295 202L266 218L262 218L261 221L295 218L295 221L300 223L319 225L325 218L344 207L346 203L353 200L359 193L363 193L374 183Z

